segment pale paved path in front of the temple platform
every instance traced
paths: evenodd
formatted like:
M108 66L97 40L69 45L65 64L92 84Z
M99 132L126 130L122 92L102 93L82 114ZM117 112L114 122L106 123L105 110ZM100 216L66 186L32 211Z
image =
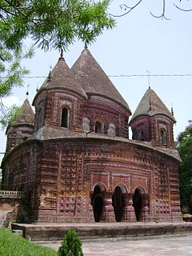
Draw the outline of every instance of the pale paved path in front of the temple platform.
M60 244L43 243L58 250ZM82 242L84 256L192 256L192 234L130 240Z

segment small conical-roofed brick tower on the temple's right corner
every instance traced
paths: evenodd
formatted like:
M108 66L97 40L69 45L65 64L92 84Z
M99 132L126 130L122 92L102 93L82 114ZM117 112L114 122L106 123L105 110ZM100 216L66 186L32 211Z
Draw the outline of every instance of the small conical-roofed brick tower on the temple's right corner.
M173 114L149 87L130 120L133 139L174 148L175 122Z

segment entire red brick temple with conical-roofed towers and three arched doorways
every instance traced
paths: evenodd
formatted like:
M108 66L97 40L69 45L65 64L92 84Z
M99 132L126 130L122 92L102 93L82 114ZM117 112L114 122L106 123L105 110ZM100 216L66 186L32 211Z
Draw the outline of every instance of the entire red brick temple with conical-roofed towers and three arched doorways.
M58 59L33 106L7 128L2 160L2 190L28 194L24 222L181 220L176 121L154 90L130 118L85 49L71 68Z

